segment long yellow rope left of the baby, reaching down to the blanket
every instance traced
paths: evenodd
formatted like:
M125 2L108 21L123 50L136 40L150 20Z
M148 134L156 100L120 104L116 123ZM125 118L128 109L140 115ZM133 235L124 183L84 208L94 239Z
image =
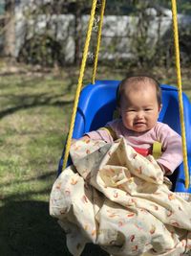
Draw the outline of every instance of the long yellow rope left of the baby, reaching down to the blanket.
M72 114L72 118L71 118L71 125L70 125L70 129L69 129L68 139L67 139L67 143L66 143L62 171L66 168L68 157L69 157L69 151L71 148L71 141L72 141L72 136L73 136L73 131L74 131L74 120L75 120L75 116L76 116L79 95L80 95L80 91L81 91L81 87L82 87L84 71L85 71L85 67L86 67L86 61L87 61L87 57L88 57L88 50L89 50L90 39L91 39L91 35L92 35L95 13L96 13L96 0L93 0L92 10L91 10L91 14L90 14L90 20L89 20L89 25L88 25L88 31L87 31L87 35L86 35L86 41L85 41L85 45L84 45L84 52L83 52L83 57L82 57L81 67L80 67L80 72L79 72L79 78L78 78L78 82L77 82L77 89L76 89L76 93L75 93L75 97L74 97L74 108L73 108L73 114Z

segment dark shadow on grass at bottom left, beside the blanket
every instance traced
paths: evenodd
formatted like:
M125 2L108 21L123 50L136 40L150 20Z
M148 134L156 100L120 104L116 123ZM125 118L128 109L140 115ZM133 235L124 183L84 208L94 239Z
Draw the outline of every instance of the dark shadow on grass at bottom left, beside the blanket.
M1 256L70 256L64 232L49 215L43 201L13 201L0 208ZM81 256L106 256L94 244L87 244Z

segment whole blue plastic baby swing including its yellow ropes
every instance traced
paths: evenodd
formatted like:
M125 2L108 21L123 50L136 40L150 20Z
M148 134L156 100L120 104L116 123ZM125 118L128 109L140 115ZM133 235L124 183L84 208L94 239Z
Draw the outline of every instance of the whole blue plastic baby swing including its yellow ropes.
M96 0L93 0L87 38L84 46L81 69L74 99L74 111L71 126L66 147L59 162L58 174L60 174L67 166L72 138L80 138L85 132L104 127L107 122L113 119L116 109L116 92L117 85L120 81L95 81L105 2L106 0L102 0L92 82L81 90L96 13ZM191 104L187 96L181 92L176 0L172 0L172 12L178 88L168 84L160 84L162 110L159 113L159 122L165 123L169 127L173 128L181 134L182 138L183 163L170 177L173 182L173 190L180 193L191 193L191 188L189 187L189 176L191 172L191 133L189 132L189 129L191 128Z

